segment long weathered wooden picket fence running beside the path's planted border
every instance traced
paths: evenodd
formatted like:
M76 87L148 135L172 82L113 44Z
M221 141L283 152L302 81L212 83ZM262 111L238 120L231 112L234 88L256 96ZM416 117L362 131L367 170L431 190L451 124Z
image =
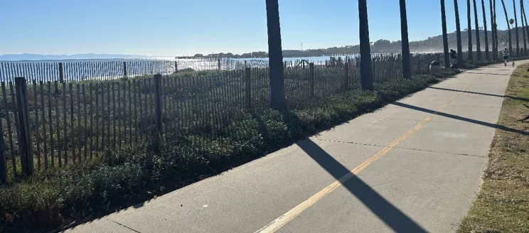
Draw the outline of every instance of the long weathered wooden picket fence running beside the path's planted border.
M413 55L412 73L429 72L429 64L440 56ZM375 82L402 77L399 55L372 59ZM359 67L360 58L285 67L287 107L360 88ZM223 131L242 114L269 109L268 67L62 81L16 77L1 82L0 183L83 163L103 151L156 139L156 134Z

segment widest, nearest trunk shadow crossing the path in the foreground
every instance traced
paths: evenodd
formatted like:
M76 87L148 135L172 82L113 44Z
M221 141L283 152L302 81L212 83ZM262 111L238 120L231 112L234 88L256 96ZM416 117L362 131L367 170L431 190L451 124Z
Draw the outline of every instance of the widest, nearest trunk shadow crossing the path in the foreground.
M404 212L392 205L382 195L378 194L368 184L363 182L358 176L336 161L323 148L319 147L311 139L305 139L296 143L306 154L316 163L324 168L336 180L340 180L344 175L351 176L350 179L341 181L344 188L355 195L360 202L377 215L388 227L395 232L427 232L417 222L408 217Z

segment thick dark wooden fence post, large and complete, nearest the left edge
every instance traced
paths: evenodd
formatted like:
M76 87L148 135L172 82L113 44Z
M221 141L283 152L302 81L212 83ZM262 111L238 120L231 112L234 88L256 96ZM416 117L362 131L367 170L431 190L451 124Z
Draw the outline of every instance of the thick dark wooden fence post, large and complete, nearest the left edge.
M33 173L33 151L31 148L31 131L29 126L28 90L25 77L15 77L16 107L18 110L18 147L21 156L22 173Z

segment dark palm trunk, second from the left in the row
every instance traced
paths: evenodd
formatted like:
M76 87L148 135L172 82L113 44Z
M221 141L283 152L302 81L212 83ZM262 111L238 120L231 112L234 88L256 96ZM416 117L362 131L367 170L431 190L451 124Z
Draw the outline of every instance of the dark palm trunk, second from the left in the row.
M363 90L373 90L367 0L358 0L358 18L360 23L360 83Z

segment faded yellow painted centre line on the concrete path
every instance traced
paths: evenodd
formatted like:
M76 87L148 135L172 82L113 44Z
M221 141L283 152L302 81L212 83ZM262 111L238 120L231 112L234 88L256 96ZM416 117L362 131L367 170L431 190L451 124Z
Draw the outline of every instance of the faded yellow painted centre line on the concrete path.
M481 76L481 77L483 77L483 76ZM472 87L472 85L476 84L476 82L481 80L481 77L479 77L479 79L477 79L476 81L474 81L470 85L468 85L464 90L465 91L469 90L469 88ZM301 212L304 212L305 210L309 209L309 207L311 207L312 205L316 204L316 202L318 202L319 200L324 198L326 195L331 193L333 190L336 190L336 188L340 187L342 185L342 183L345 183L347 180L351 180L351 178L355 177L355 175L360 173L361 170L363 170L364 168L367 168L371 163L377 161L379 158L382 158L382 156L384 156L386 153L390 152L391 149L394 148L395 146L397 146L399 143L401 143L402 141L404 141L408 137L412 136L412 134L415 134L415 132L418 131L419 129L421 129L422 126L424 126L424 124L426 124L428 121L432 120L434 118L435 114L437 114L437 112L441 112L444 108L448 107L448 105L451 104L451 102L454 102L454 100L457 97L459 97L461 94L463 94L463 92L458 92L457 94L455 94L454 97L452 97L449 100L449 102L447 102L442 107L437 109L437 111L435 113L433 113L432 115L428 116L426 119L422 120L419 124L417 124L412 129L410 129L410 131L407 131L406 134L400 136L400 138L398 138L397 140L393 141L388 146L385 146L382 150L378 151L378 153L376 153L374 156L371 156L371 158L368 158L368 160L364 161L359 166L357 166L356 168L351 170L350 173L348 173L347 175L344 175L339 180L334 181L333 183L331 183L331 185L328 185L323 190L321 190L318 193L316 193L315 195L309 197L309 199L305 200L304 202L301 202L301 204L297 205L292 210L289 210L289 212L286 212L284 215L281 215L280 217L278 217L274 221L270 222L265 227L262 227L261 229L257 230L257 232L255 232L255 233L272 233L272 232L276 232L279 228L283 227L285 224L287 224L288 222L292 221L294 219L294 217L297 217L298 215L300 215Z

